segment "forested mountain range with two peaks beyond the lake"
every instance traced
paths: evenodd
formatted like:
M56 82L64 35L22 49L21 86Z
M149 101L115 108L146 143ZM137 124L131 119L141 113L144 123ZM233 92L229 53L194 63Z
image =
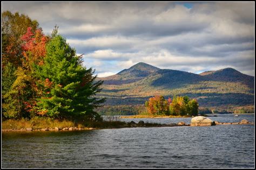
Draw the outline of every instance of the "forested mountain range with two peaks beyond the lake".
M232 68L194 74L138 63L99 79L104 80L99 96L107 97L105 105L144 104L157 94L187 95L203 107L254 105L254 77Z

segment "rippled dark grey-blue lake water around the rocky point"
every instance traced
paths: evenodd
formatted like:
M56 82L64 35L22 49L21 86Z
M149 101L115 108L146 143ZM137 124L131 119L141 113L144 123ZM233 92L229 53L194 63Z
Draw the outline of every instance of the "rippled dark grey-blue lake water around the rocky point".
M218 114L254 122L254 114ZM190 123L191 118L123 119ZM2 168L254 168L254 125L2 133Z

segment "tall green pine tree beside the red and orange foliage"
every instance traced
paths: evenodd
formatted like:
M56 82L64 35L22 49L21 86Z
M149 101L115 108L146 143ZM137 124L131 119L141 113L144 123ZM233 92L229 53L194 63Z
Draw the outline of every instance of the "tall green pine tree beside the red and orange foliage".
M39 79L38 113L58 119L95 119L94 109L105 101L95 95L103 81L95 81L94 71L82 65L82 56L60 35L46 46L43 65L34 65Z

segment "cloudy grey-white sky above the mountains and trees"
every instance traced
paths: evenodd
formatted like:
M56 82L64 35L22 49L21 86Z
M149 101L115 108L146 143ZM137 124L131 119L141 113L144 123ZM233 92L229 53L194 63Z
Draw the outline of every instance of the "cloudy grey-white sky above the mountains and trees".
M54 26L98 77L144 62L201 73L254 76L255 2L2 2L2 12Z

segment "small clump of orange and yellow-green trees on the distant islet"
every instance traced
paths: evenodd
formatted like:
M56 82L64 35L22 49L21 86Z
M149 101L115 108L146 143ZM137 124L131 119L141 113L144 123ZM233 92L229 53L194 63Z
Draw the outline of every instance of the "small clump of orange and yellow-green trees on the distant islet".
M163 96L151 97L145 102L147 112L153 115L198 115L198 102L187 96L174 96L167 100Z

